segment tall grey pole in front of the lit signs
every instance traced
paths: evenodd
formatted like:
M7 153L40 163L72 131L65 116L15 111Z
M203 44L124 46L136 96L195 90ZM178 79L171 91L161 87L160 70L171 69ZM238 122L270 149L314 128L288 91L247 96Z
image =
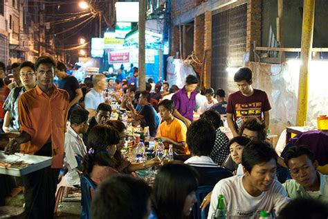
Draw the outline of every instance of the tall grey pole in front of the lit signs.
M146 31L146 0L139 0L139 63L138 63L138 90L146 89L146 64L145 64L145 31Z

